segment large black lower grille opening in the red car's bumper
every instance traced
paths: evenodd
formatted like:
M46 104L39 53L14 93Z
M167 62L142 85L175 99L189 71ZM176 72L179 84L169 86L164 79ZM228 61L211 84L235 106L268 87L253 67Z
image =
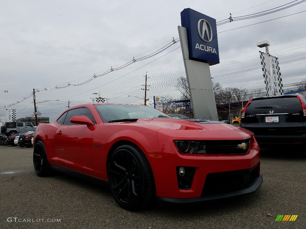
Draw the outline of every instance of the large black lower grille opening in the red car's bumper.
M202 196L238 191L247 188L258 176L258 164L252 169L242 169L206 176Z

